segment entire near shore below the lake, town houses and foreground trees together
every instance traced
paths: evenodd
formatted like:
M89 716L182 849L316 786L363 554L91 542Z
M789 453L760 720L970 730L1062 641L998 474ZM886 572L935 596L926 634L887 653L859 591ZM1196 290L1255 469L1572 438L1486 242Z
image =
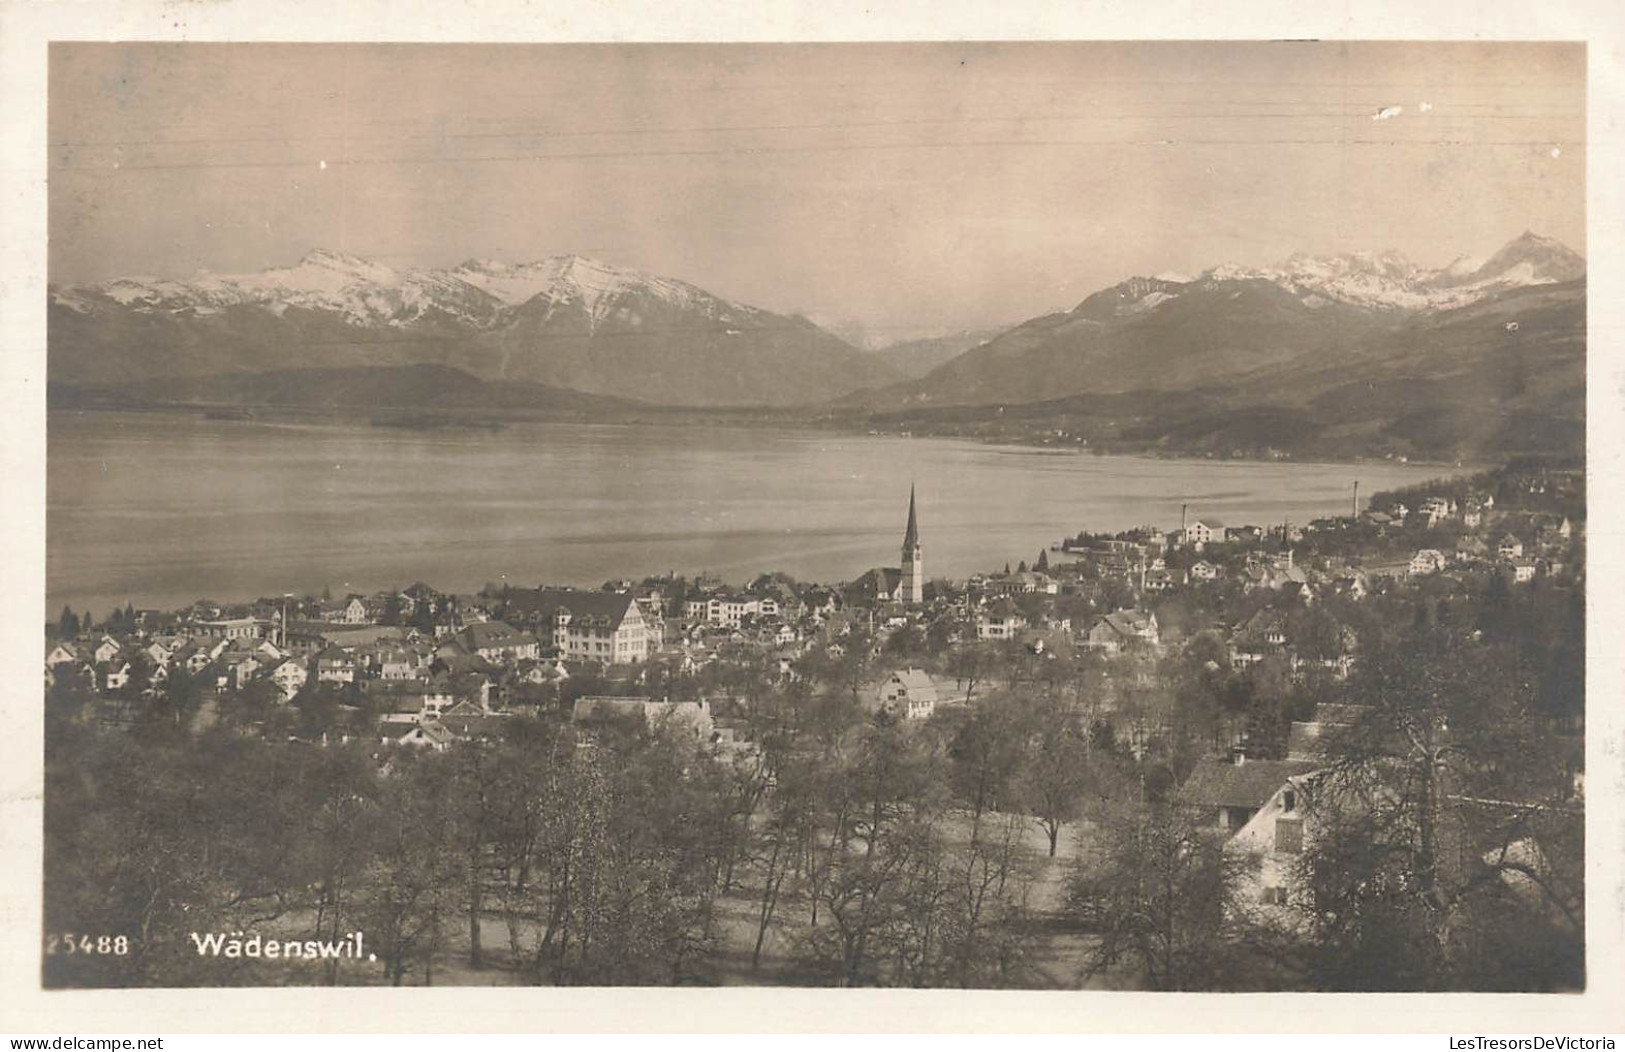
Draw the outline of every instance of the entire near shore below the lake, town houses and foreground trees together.
M330 982L1583 985L1583 473L1176 512L968 580L910 493L899 564L842 584L63 610L47 928L145 938L47 984L218 982L180 927L218 914L366 919L382 971Z

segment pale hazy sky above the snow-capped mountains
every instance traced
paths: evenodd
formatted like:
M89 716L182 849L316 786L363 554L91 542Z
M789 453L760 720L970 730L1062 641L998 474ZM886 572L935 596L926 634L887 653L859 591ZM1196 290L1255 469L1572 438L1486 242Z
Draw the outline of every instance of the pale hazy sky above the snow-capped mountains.
M578 252L895 338L1300 250L1584 252L1563 44L54 44L50 143L57 283Z

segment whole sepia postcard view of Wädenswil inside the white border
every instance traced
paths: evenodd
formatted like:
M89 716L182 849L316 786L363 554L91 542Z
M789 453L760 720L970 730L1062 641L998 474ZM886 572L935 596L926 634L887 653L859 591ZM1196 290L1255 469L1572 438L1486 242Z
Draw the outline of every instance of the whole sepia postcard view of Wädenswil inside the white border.
M1588 990L1584 42L44 104L42 990Z

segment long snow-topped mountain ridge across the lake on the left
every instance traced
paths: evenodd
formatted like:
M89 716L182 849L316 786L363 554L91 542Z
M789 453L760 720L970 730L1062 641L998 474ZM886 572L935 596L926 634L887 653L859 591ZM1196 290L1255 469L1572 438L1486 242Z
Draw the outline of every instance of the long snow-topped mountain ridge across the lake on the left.
M900 379L812 322L578 255L395 270L315 250L190 281L54 288L65 384L440 364L663 405L796 405Z

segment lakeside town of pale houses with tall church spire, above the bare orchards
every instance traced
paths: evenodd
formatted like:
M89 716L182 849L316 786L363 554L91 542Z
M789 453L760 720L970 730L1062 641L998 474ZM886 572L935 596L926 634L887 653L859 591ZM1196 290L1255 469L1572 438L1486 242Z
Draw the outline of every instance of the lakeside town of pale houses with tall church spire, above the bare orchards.
M1466 600L1495 585L1575 589L1580 478L1513 476L1500 498L1453 483L1425 496L1373 502L1358 515L1306 524L1224 524L1190 515L1180 528L1079 533L968 580L928 580L913 494L902 567L819 585L764 574L744 585L712 576L611 580L601 589L496 587L439 592L427 584L374 595L283 595L185 610L128 606L93 621L63 610L47 624L47 691L75 685L96 720L136 722L171 680L202 704L195 715L332 702L322 735L444 743L444 715L500 717L569 706L588 688L650 702L728 698L728 670L798 678L804 662L842 659L863 641L876 707L913 685L907 719L964 704L977 678L967 652L1006 662L1092 660L1110 675L1150 668L1191 647L1246 673L1279 662L1294 683L1347 678L1360 628L1384 597ZM920 702L930 696L931 702ZM281 720L286 722L286 720ZM369 725L375 724L375 725ZM1243 722L1245 724L1245 722ZM1136 735L1152 733L1138 727ZM452 735L455 737L455 735ZM1256 727L1232 746L1271 751Z

